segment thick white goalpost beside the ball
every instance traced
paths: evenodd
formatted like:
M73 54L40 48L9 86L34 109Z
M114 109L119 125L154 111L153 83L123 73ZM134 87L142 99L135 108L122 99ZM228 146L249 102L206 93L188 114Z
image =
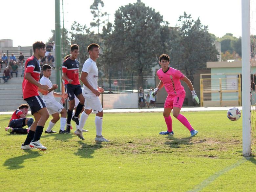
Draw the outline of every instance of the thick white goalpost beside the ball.
M243 155L251 155L250 0L242 0Z

